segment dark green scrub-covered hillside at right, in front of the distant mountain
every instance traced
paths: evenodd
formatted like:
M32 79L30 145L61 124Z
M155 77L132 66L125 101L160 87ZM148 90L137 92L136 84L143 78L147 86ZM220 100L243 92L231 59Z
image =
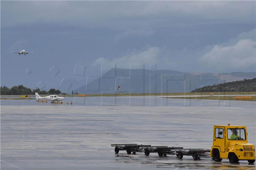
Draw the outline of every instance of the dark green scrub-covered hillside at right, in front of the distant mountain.
M256 92L256 78L208 85L191 92Z

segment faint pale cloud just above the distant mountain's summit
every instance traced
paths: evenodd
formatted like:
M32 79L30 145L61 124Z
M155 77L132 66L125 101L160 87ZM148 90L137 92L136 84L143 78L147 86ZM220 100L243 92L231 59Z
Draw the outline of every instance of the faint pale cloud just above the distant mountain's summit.
M152 64L158 63L160 55L160 48L151 47L146 50L139 52L134 55L126 55L121 58L116 58L113 60L106 59L104 57L98 58L94 61L93 65L100 65L105 63L116 63L117 68L126 68L130 67L130 64Z

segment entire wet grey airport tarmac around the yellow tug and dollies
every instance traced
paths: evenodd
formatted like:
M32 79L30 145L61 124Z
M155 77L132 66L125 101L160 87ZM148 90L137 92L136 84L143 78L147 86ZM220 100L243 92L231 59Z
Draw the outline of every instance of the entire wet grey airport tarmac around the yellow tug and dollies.
M71 106L35 100L9 100L8 105L1 100L1 169L255 169L247 161L115 154L111 147L131 143L210 149L213 125L228 123L246 125L248 142L255 145L255 102L150 96L86 101L75 99Z

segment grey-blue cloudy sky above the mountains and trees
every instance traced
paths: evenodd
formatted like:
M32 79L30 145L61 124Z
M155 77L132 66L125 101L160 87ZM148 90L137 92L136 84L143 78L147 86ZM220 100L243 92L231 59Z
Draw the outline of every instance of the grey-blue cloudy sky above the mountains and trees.
M70 92L72 81L143 64L204 73L256 69L256 1L0 4L1 86ZM33 53L11 53L20 49Z

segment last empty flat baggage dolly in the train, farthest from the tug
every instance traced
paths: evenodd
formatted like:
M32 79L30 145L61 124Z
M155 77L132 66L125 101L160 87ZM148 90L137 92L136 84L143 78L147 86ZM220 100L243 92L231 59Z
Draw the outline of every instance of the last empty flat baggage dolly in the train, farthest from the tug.
M151 145L143 144L111 144L112 147L115 147L115 152L126 151L127 154L144 152L142 147L150 147Z

